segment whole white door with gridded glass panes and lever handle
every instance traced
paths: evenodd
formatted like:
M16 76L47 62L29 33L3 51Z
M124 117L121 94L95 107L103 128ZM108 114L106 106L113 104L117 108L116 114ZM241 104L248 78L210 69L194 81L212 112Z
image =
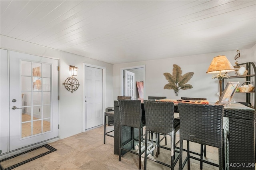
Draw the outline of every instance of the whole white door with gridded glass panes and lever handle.
M10 151L58 136L58 60L10 51Z

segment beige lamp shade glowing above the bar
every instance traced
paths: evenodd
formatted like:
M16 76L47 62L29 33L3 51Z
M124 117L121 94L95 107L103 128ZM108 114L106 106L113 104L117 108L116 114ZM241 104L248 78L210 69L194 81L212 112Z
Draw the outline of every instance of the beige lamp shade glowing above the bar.
M234 71L234 67L228 61L225 55L219 55L212 59L212 62L206 73L224 73Z

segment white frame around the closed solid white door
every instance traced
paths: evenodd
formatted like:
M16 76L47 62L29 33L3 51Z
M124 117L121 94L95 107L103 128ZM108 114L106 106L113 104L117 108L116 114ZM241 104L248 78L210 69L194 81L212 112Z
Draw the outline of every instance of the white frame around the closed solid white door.
M85 71L85 66L88 66L88 67L94 67L94 68L98 68L98 69L102 69L102 71L103 71L103 73L102 73L102 75L103 75L103 80L102 80L102 83L103 83L103 94L102 94L102 98L103 98L103 103L102 103L102 118L103 118L103 120L102 120L102 122L104 122L104 112L105 112L105 101L106 101L106 67L101 67L101 66L98 66L98 65L92 65L92 64L88 64L88 63L84 63L84 66L83 66L83 69L84 69L84 71ZM85 76L85 74L84 74L84 76ZM83 82L84 82L84 76L83 76ZM83 87L83 100L85 101L86 99L85 99L85 84L84 84L84 87ZM85 113L86 113L86 105L85 105L85 102L83 101L83 111L84 111L84 114L83 114L83 132L85 132L86 131L86 129L85 129L85 117L86 117L86 115L85 115ZM96 127L94 127L94 128L96 128Z

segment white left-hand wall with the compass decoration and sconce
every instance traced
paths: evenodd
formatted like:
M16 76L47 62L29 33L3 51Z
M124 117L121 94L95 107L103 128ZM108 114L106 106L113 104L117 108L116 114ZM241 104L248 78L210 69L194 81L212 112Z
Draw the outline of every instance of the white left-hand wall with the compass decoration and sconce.
M42 57L50 57L54 59L60 59L60 82L59 82L59 136L60 138L66 138L74 134L83 132L83 119L84 119L84 66L83 63L91 65L98 65L100 67L106 67L106 96L105 106L111 107L113 103L113 65L102 61L90 59L80 55L67 53L51 49L48 47L36 45L20 41L14 38L6 36L0 37L1 49L8 49L11 51L18 51L22 53L38 55ZM75 92L71 93L67 91L62 85L66 78L70 77L69 65L75 65L78 67L78 76L76 77L80 83L80 87Z

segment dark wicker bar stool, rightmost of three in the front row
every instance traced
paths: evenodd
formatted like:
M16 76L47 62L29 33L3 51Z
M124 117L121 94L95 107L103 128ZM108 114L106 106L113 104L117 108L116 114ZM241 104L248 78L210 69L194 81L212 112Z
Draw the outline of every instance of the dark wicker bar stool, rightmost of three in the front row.
M182 164L182 152L180 152L179 169L183 169L186 161L190 167L190 158L224 168L224 137L223 137L223 105L203 105L178 103L180 113L180 150L183 150L183 140L187 140L187 156ZM189 141L199 144L210 145L218 148L219 164L202 159L202 148L200 158L190 155ZM202 145L201 145L202 146Z

